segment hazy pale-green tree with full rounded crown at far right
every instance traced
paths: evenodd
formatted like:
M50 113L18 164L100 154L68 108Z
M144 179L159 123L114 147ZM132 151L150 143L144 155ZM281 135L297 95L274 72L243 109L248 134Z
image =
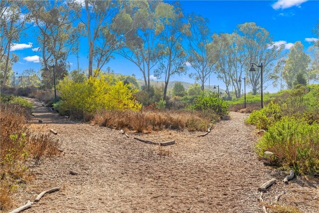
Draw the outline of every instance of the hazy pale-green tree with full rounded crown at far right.
M289 89L293 87L293 82L297 73L300 72L305 76L308 76L307 71L310 61L310 55L304 52L304 45L300 41L296 41L289 51L283 72L283 78Z

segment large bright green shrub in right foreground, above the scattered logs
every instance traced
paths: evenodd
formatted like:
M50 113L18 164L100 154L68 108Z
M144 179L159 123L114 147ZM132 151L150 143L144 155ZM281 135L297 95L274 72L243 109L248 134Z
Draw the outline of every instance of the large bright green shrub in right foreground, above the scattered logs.
M256 145L259 155L276 153L284 167L301 174L319 173L319 124L283 117L265 132Z

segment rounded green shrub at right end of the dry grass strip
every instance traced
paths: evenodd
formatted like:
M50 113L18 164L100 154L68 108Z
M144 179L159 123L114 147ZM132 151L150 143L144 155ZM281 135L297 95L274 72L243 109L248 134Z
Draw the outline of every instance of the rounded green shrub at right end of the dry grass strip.
M195 98L194 103L190 105L191 109L194 110L212 110L219 116L228 114L228 104L221 98L218 98L218 95L211 94L208 96L198 96Z

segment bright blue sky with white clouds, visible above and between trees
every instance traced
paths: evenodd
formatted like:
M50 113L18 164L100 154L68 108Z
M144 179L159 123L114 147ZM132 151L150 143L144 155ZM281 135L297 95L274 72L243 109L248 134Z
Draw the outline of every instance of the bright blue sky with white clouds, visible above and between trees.
M315 37L312 29L316 27L319 20L319 0L182 0L180 3L184 14L194 12L207 17L212 32L231 33L238 24L255 22L269 31L274 41L285 44L287 51L296 41L301 41L306 51L311 45L311 39ZM39 47L39 44L31 29L27 34L27 37L21 38L20 42L11 49L19 56L18 63L13 65L13 70L18 72L18 75L28 68L36 71L41 68L38 60L40 53L32 51ZM88 67L87 38L81 38L80 42L79 67L86 69ZM68 61L71 64L71 70L77 68L76 56L69 56ZM106 64L104 69L108 66L116 73L129 75L134 73L138 78L142 77L136 65L119 55L115 55L115 59ZM191 68L188 69L189 72ZM188 75L175 76L171 80L193 82ZM218 81L213 74L210 84L219 84L223 88L223 83ZM276 91L272 87L267 90Z

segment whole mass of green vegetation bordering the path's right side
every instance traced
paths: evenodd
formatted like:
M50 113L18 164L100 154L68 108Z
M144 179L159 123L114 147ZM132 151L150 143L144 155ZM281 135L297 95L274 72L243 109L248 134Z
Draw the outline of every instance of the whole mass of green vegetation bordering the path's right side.
M319 174L319 86L297 85L286 92L288 96L253 111L246 121L266 130L257 152L275 153L268 157L274 164L298 173Z

